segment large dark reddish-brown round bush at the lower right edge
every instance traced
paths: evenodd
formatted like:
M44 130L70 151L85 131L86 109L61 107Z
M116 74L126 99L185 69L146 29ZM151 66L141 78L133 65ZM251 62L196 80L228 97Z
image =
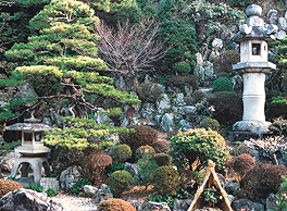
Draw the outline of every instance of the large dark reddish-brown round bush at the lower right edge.
M279 190L283 175L287 175L287 169L282 165L259 164L245 174L240 184L245 191L264 199L271 193Z

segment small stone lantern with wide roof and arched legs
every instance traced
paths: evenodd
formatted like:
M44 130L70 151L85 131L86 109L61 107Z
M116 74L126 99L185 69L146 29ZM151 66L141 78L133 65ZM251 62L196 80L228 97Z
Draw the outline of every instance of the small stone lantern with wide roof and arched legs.
M22 177L28 177L29 165L33 166L34 182L39 185L41 178L41 167L43 166L46 176L51 175L50 166L46 154L50 152L42 144L43 131L51 131L53 127L41 124L40 120L32 116L24 120L24 123L16 123L5 127L7 131L21 131L22 145L15 148L15 152L22 154L13 165L11 177L15 177L21 167Z

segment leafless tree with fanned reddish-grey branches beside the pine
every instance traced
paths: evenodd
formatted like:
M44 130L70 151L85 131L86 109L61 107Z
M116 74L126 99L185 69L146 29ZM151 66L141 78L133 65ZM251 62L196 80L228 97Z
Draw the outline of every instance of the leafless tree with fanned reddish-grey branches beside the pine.
M101 22L95 25L95 33L101 37L97 45L99 57L111 70L132 77L136 92L137 72L151 67L170 49L166 41L157 40L159 23L151 18L141 18L136 25L127 20L117 23L116 29Z

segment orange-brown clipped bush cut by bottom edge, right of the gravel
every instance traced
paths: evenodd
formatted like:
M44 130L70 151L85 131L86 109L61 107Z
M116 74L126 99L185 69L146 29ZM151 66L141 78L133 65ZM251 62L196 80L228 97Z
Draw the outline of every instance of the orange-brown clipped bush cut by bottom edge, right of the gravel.
M122 199L108 199L99 203L98 211L136 211L129 202Z

